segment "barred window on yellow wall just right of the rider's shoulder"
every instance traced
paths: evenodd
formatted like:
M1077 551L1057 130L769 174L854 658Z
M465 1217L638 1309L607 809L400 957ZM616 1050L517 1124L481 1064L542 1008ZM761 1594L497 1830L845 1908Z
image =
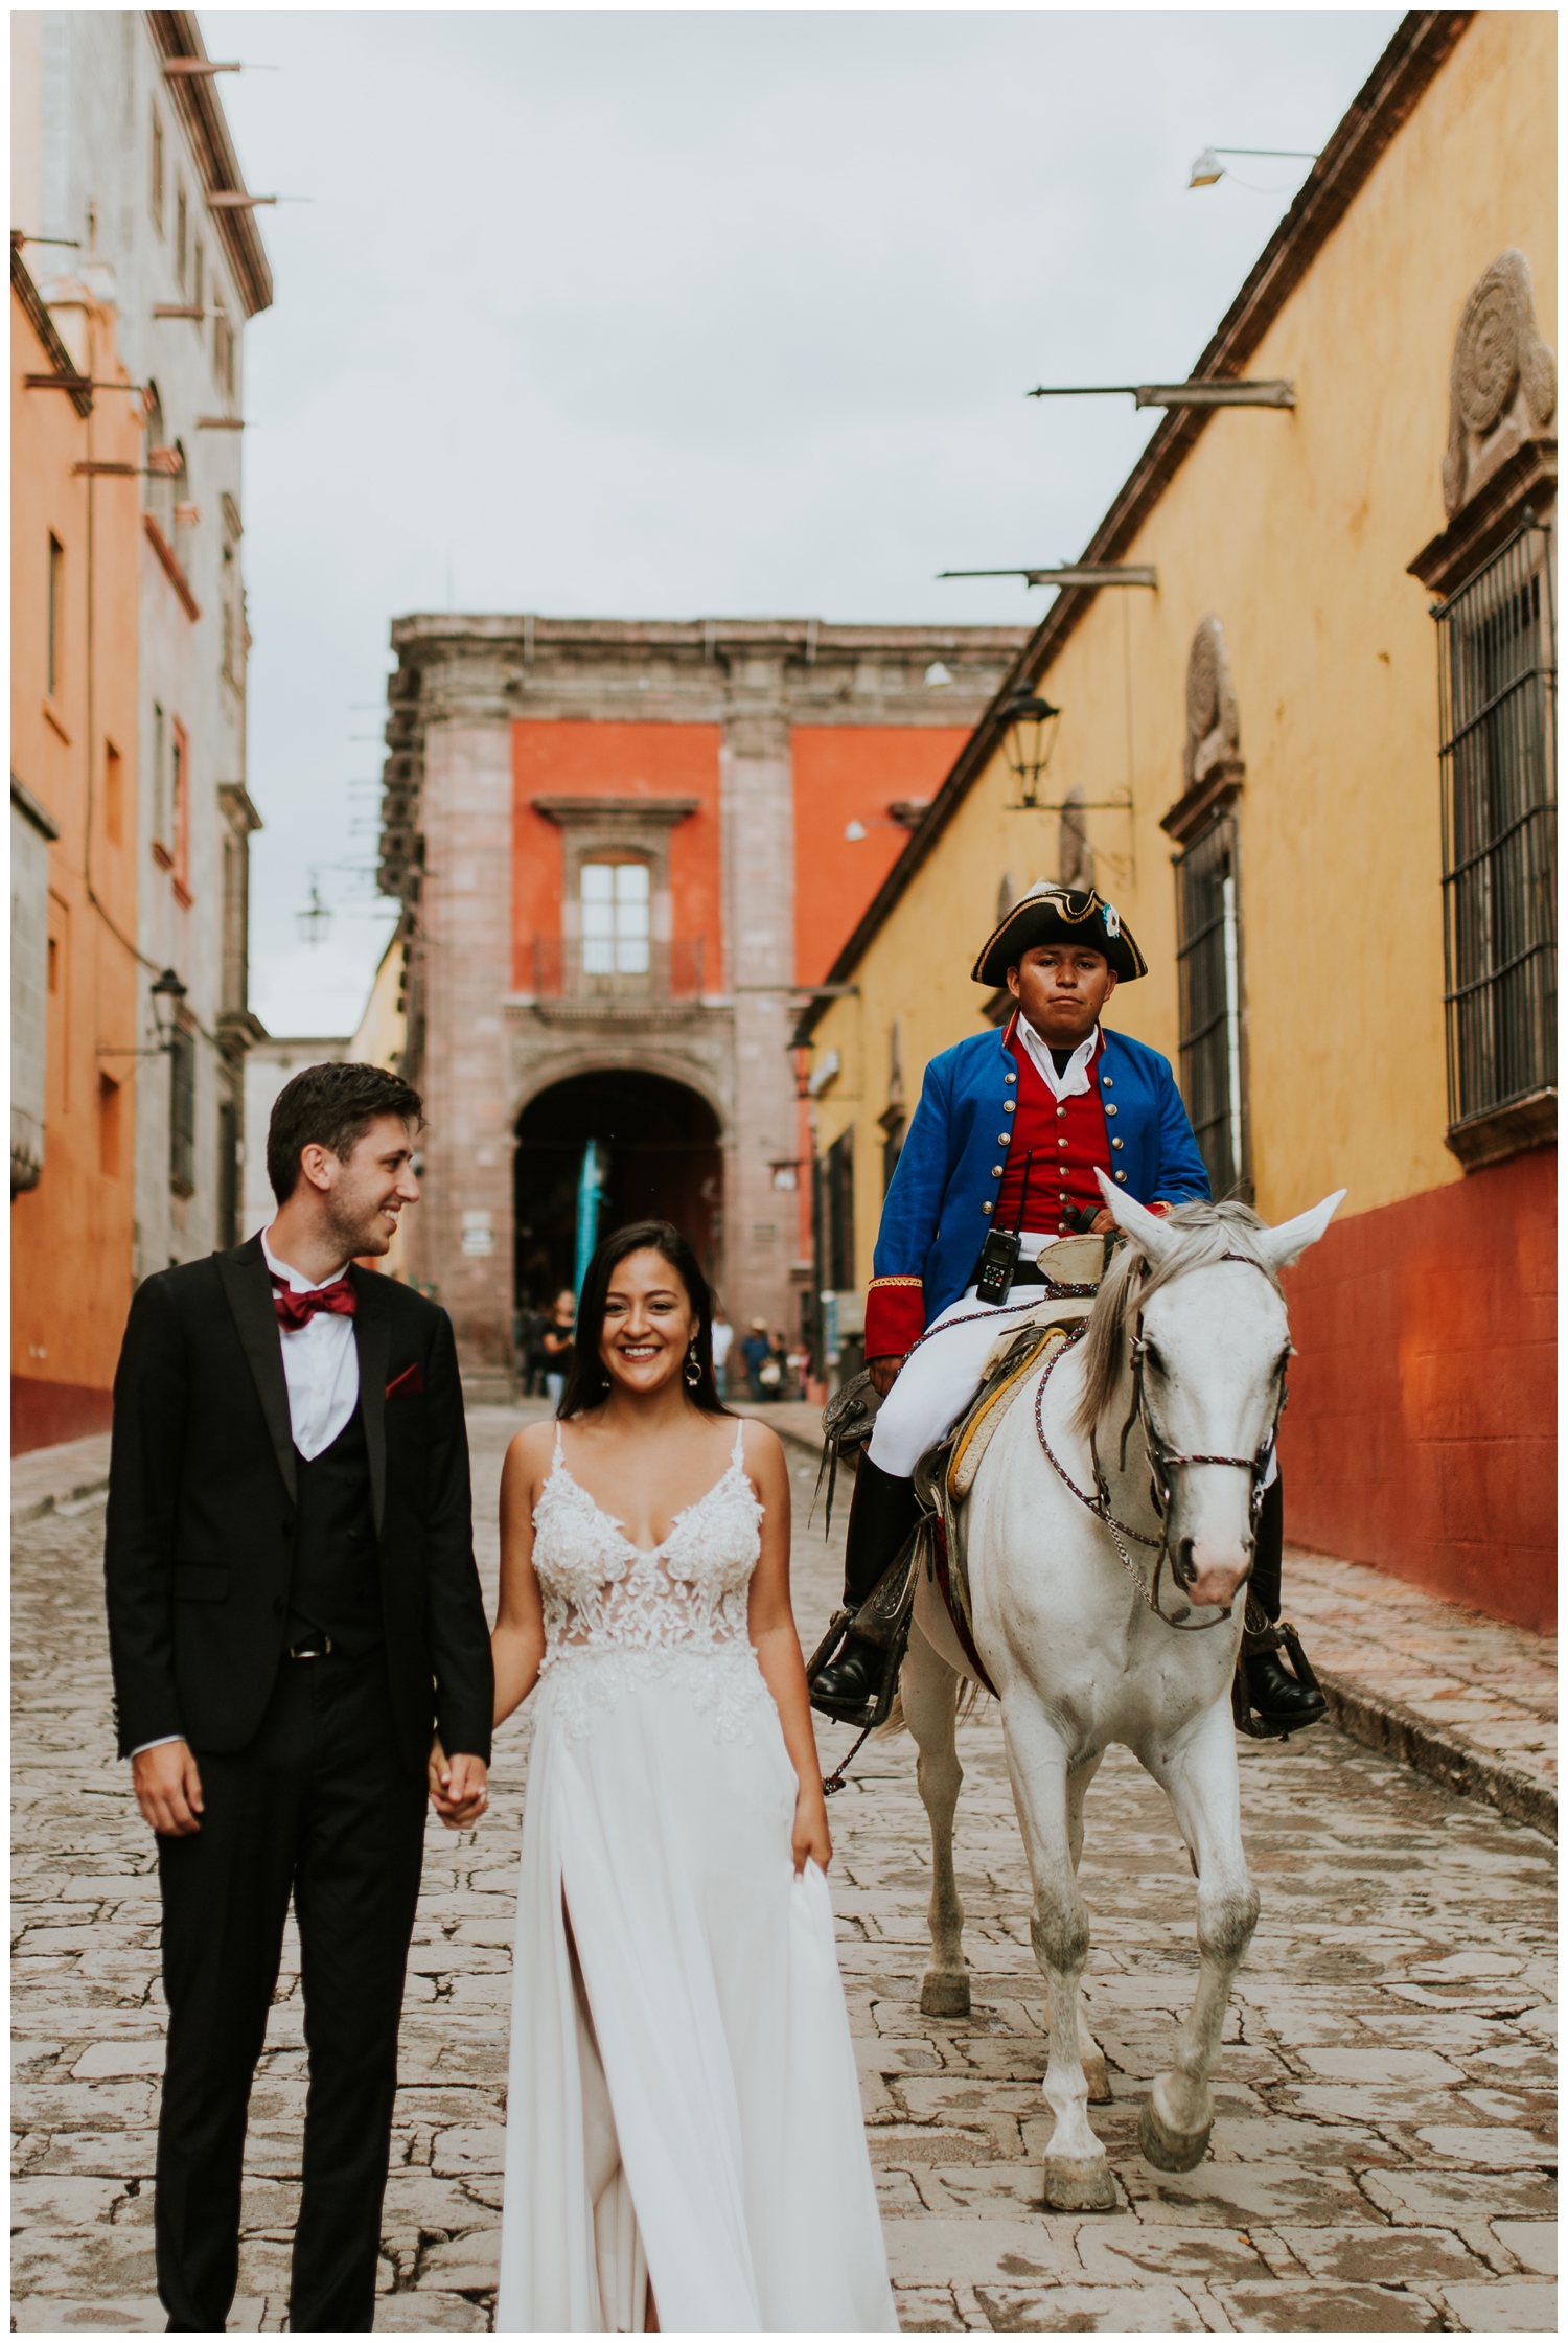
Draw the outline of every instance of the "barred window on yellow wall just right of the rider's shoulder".
M1247 1195L1242 951L1235 822L1226 815L1177 862L1181 1094L1216 1197Z

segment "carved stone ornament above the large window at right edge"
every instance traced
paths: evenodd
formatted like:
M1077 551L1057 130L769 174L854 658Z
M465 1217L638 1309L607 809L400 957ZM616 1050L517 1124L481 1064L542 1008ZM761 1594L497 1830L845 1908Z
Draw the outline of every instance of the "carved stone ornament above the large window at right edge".
M1556 415L1556 358L1535 323L1530 262L1507 251L1472 288L1448 373L1448 520Z

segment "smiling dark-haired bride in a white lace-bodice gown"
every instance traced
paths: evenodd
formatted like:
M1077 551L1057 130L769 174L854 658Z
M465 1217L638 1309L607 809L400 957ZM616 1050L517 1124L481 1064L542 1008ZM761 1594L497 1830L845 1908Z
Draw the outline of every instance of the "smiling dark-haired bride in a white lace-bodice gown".
M895 2329L790 1481L666 1221L598 1249L506 1453L497 1724L534 1685L497 2331Z

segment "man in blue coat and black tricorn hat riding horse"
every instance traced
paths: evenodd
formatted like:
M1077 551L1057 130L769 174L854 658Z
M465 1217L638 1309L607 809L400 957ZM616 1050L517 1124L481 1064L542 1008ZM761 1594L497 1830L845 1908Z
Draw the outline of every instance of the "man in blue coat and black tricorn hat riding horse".
M1099 1024L1118 982L1146 972L1116 907L1095 888L1024 895L970 970L975 984L1005 984L1013 1015L926 1066L865 1303L865 1359L881 1408L848 1514L851 1610L914 1528L914 1467L975 1396L998 1321L1010 1319L1005 1296L1031 1305L1048 1282L1038 1265L1048 1246L1113 1228L1095 1172L1151 1211L1209 1195L1170 1064ZM1252 1567L1268 1619L1280 1617L1282 1535L1270 1464ZM881 1666L881 1649L851 1633L816 1675L813 1706L860 1722ZM1247 1685L1275 1731L1324 1713L1322 1694L1296 1682L1275 1652L1247 1659Z

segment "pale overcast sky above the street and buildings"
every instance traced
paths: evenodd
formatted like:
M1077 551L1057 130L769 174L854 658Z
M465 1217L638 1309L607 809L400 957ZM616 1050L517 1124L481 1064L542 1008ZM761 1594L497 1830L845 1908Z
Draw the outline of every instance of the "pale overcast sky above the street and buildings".
M389 626L1034 623L1397 12L204 9L277 305L246 330L251 1000L349 1031ZM1266 417L1259 417L1266 429ZM312 869L333 904L298 940Z

